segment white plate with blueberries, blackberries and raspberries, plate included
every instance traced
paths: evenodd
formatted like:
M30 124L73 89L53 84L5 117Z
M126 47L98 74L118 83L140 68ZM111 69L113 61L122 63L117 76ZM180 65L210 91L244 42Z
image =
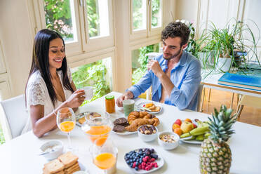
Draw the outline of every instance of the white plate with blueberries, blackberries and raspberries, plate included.
M124 159L132 173L150 173L161 168L164 160L154 149L135 149L125 154Z

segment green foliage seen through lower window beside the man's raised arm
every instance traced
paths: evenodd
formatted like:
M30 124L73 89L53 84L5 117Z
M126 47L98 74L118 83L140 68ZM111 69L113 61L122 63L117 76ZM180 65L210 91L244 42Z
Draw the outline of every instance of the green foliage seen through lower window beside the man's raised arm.
M133 77L132 77L133 84L140 81L140 78L142 78L142 76L147 71L148 56L146 56L146 54L152 52L159 52L159 44L154 44L154 45L139 48L139 51L140 51L140 55L139 55L138 62L140 63L140 67L133 71Z

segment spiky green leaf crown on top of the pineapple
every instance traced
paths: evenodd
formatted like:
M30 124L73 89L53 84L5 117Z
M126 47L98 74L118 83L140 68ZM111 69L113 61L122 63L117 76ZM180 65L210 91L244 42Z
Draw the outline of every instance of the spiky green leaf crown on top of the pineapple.
M215 143L227 142L234 132L232 125L236 122L236 114L232 115L233 110L221 105L220 112L214 109L212 119L209 119L210 139Z

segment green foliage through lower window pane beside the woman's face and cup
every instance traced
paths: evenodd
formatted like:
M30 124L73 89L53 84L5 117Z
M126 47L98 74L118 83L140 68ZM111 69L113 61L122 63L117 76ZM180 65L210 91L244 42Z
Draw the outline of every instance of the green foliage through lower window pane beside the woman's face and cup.
M105 80L106 74L107 68L102 64L102 60L83 65L76 72L72 73L72 79L76 88L83 88L84 86L93 86L94 88L93 98L89 101L84 101L83 105L111 92L111 88Z

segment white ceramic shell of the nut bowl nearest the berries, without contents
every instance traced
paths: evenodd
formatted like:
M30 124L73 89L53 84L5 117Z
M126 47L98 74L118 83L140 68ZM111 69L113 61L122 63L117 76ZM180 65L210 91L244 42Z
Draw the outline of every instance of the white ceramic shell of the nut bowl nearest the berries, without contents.
M161 135L171 135L173 136L174 142L164 142L163 140L160 139ZM159 145L163 147L163 149L170 150L170 149L175 149L178 147L178 142L180 141L180 136L177 133L173 133L170 131L163 131L159 133L158 136L158 142Z

